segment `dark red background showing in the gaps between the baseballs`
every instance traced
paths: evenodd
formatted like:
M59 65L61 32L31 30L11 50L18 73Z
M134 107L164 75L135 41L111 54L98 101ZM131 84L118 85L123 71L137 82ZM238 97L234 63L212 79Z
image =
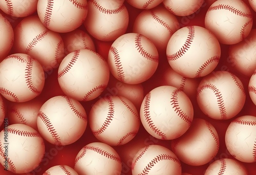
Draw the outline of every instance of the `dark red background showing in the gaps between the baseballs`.
M203 4L203 6L194 14L185 16L185 17L178 17L178 20L180 22L180 27L188 26L188 25L197 25L197 26L202 26L204 27L204 16L205 13L210 6L210 2L212 3L213 1L206 0L206 2ZM245 1L248 4L248 1ZM136 16L142 11L140 9L136 9L129 4L125 2L125 6L129 10L129 17L130 17L130 22L129 22L129 28L127 29L127 33L132 32L133 28L133 21L136 18ZM249 4L248 4L249 6ZM250 8L251 9L251 8ZM251 9L251 12L253 13L253 27L255 28L256 26L256 12L254 12ZM1 12L7 19L10 21L11 25L15 27L22 18L16 18L16 17L11 17L3 12ZM84 30L83 26L80 27L81 29ZM112 44L112 42L103 42L94 39L94 43L96 46L97 52L102 55L105 59L108 59L108 52L109 48ZM242 115L252 115L256 116L256 107L252 103L249 94L248 94L248 82L250 77L246 77L240 73L238 73L232 64L230 63L228 59L228 46L227 45L221 45L221 59L220 62L215 70L223 70L223 71L230 71L234 73L236 76L240 78L240 80L243 82L245 91L246 91L246 102L244 105L243 110L236 116L242 116ZM12 51L10 54L13 53ZM159 53L160 56L160 61L159 61L159 66L152 78L149 80L145 81L142 83L143 88L144 88L144 95L151 91L152 89L156 88L159 85L164 85L162 80L162 74L163 71L169 67L165 53ZM45 87L42 93L37 97L38 100L45 102L51 97L57 96L57 95L65 95L62 93L62 91L59 88L58 82L57 82L57 69L52 70L48 73L46 73L46 82L45 82ZM113 79L113 77L111 77ZM200 81L201 78L198 78L198 82ZM111 80L110 80L111 81ZM109 93L107 90L103 92L101 97L104 96L104 94ZM84 106L86 109L87 114L90 112L90 108L93 103L95 103L99 98L96 98L95 100L89 101L89 102L81 102L81 104ZM225 120L225 121L218 121L214 119L207 118L199 109L197 105L196 99L191 99L193 102L194 106L194 118L203 118L208 121L212 125L215 126L219 138L220 138L220 149L215 157L214 160L218 160L221 158L231 158L233 157L229 154L229 152L226 149L225 146L225 131L226 128L228 127L229 123L231 120ZM10 102L6 101L6 104L8 105ZM138 107L139 108L139 107ZM6 116L8 117L8 116ZM235 118L236 118L235 117ZM0 128L1 130L3 129L3 125ZM46 145L46 155L45 158L42 160L41 164L34 170L32 171L31 174L42 174L44 171L46 171L48 168L55 166L55 165L60 165L60 164L65 164L68 166L71 166L74 168L74 160L76 155L78 154L79 150L85 146L86 144L89 144L91 142L97 142L98 140L92 135L91 130L89 125L87 125L86 132L84 132L83 136L75 143L63 147L56 147L55 145L52 145L45 141ZM133 159L133 156L136 154L136 151L139 148L142 148L148 144L159 144L166 146L167 148L170 149L170 142L171 141L163 141L163 140L158 140L156 138L153 138L150 136L143 126L141 125L140 130L136 137L129 143L122 145L122 146L113 146L118 154L120 155L122 162L123 162L123 174L131 174L131 162ZM256 173L256 163L243 163L245 167L247 168L249 174L255 174ZM200 175L204 174L204 171L208 167L209 163L202 165L202 166L190 166L182 163L182 172L187 172L195 175ZM0 174L13 174L10 172L7 172L4 170L4 168L0 168Z

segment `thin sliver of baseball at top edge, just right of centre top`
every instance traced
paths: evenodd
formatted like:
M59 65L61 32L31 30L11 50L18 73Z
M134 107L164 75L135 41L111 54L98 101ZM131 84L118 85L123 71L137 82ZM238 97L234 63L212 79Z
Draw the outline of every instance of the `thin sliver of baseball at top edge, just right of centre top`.
M137 9L153 9L163 2L163 0L126 0L131 6Z

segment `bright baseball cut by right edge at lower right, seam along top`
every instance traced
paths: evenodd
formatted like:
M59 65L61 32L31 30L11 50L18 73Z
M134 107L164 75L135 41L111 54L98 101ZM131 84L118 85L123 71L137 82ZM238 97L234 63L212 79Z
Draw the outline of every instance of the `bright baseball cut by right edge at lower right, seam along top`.
M225 134L230 154L241 162L256 162L256 117L241 116L231 121Z

